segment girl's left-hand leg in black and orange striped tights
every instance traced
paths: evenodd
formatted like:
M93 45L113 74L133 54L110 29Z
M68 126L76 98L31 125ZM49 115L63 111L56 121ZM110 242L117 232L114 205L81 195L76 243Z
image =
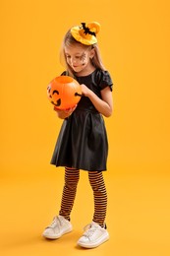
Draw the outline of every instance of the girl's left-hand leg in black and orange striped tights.
M68 221L70 221L70 214L74 205L79 178L79 169L65 168L65 185L59 215L63 216Z

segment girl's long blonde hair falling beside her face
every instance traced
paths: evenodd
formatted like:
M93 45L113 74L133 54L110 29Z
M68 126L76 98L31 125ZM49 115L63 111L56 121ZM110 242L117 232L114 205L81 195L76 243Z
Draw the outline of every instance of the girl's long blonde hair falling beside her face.
M69 30L66 35L64 36L64 39L63 39L63 43L62 43L62 47L61 47L61 51L60 51L60 62L61 64L66 68L66 71L68 73L69 76L72 76L74 77L74 71L71 69L71 67L68 65L67 63L67 60L66 60L66 55L65 55L65 46L71 46L73 44L80 44L82 45L83 47L85 47L85 49L87 48L93 48L94 49L94 56L93 58L91 59L91 63L92 65L95 67L95 68L99 68L101 70L105 70L105 67L102 63L102 60L101 60L101 56L100 56L100 51L99 51L99 48L98 48L98 45L97 43L94 43L92 45L85 45L79 41L77 41L71 34L71 31Z

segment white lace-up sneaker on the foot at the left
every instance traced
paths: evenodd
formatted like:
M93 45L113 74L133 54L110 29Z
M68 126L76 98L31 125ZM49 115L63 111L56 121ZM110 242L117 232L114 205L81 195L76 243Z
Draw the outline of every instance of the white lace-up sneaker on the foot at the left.
M57 239L63 234L72 231L72 224L67 221L63 216L54 217L52 224L47 226L42 235L45 238Z

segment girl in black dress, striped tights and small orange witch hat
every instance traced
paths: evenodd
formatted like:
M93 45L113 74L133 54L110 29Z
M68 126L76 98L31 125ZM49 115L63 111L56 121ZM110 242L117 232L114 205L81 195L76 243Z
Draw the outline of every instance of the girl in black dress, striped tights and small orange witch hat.
M77 106L56 110L64 119L51 160L56 166L65 166L65 185L61 209L43 236L57 239L72 231L70 215L74 205L80 169L88 171L93 190L94 215L86 226L78 245L96 247L109 239L105 217L107 193L102 171L106 170L108 153L107 135L102 115L112 114L112 80L105 70L97 46L98 23L73 27L66 33L62 57L67 71L62 75L74 77L82 86L83 96Z

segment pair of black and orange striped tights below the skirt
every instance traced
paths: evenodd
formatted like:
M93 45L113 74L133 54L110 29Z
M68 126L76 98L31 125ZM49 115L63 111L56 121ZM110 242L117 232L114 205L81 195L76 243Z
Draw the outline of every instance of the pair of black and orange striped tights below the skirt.
M63 188L59 215L65 217L69 221L76 197L79 178L79 169L65 168L65 185ZM92 221L104 226L107 208L107 192L102 171L88 171L88 179L94 197L94 215Z

